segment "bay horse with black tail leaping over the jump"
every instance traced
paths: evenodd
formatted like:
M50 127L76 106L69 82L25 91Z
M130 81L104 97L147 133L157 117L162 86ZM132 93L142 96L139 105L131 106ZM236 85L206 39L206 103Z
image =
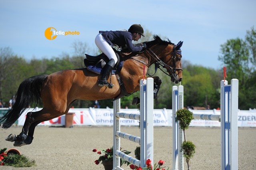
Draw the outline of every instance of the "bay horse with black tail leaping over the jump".
M140 89L143 68L145 67L146 73L153 63L162 65L174 83L182 81L180 50L182 43L175 45L170 40L161 40L159 36L154 35L153 41L146 42L145 51L121 53L124 64L119 76L126 92L129 94ZM6 115L0 118L0 123L4 122L2 128L11 127L24 110L32 103L38 103L40 98L43 108L40 111L29 112L26 115L22 132L17 136L10 134L6 140L14 142L14 146L31 144L36 125L68 113L72 103L77 99L117 99L122 89L117 75L111 77L114 84L112 88L99 87L100 75L88 71L87 68L63 70L50 75L36 75L25 79L18 88L15 104ZM159 81L159 77L153 78Z

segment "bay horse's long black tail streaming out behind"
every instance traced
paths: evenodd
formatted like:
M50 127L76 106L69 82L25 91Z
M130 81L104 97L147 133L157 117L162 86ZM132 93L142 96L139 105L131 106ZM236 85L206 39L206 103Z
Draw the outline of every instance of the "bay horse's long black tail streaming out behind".
M47 77L48 75L36 75L20 83L14 105L3 117L0 117L0 123L4 122L2 128L11 127L26 108L32 103L38 104L41 98L41 86Z

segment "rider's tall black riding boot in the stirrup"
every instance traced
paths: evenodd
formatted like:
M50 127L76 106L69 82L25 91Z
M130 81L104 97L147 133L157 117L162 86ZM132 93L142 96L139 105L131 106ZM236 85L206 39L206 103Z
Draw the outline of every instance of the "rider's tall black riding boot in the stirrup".
M98 85L100 87L103 87L103 86L112 87L112 86L114 86L113 84L108 83L108 77L109 77L110 72L112 71L114 65L115 65L114 59L110 59L110 61L108 61L108 63L104 66L102 76L98 80Z

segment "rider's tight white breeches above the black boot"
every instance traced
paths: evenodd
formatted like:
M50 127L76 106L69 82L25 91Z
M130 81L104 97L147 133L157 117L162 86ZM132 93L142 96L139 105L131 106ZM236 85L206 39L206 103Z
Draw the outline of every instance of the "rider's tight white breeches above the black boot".
M104 53L109 59L114 59L115 63L117 62L117 57L112 49L112 47L109 45L109 43L105 40L104 37L101 35L102 33L99 33L95 38L95 43L97 47Z

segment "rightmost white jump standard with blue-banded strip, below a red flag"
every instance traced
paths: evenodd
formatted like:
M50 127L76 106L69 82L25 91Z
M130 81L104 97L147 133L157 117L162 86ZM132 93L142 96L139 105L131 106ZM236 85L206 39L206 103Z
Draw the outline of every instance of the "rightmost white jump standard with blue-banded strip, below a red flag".
M220 82L221 168L238 170L238 79Z

